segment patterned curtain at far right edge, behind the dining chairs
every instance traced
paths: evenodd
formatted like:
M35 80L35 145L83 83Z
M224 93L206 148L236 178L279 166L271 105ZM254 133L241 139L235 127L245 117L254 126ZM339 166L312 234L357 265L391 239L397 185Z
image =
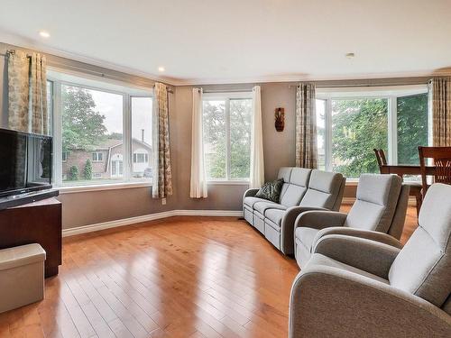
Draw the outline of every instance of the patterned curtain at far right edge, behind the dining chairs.
M435 147L451 146L451 78L433 78L430 83L432 137Z

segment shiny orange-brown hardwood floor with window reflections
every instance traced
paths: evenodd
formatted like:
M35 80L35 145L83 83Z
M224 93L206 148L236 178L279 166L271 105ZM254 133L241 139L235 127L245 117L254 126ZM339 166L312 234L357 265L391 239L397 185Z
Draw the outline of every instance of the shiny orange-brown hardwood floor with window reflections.
M410 207L403 241L416 222ZM45 299L0 315L0 336L285 337L298 271L232 217L79 235L65 239Z

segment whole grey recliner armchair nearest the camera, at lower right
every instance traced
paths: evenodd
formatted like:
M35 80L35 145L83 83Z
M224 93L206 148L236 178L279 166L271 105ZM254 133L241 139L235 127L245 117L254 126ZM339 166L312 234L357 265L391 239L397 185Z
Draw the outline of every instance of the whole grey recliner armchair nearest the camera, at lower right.
M451 187L435 184L402 248L328 234L291 288L290 338L450 337Z

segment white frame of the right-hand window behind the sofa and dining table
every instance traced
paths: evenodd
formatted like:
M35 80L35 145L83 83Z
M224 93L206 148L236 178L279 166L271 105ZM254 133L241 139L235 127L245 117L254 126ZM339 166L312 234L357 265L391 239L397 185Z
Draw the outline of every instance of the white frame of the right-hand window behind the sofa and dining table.
M388 100L387 133L388 164L398 164L398 97L428 94L428 85L409 85L395 87L324 87L317 88L316 99L325 101L325 167L332 171L332 101L337 99L358 100L363 98L379 98ZM428 109L428 125L432 123L432 115ZM428 130L428 133L430 129ZM428 143L431 142L428 134ZM428 144L430 145L430 144ZM373 151L373 150L370 150ZM358 178L346 178L347 182L357 182Z

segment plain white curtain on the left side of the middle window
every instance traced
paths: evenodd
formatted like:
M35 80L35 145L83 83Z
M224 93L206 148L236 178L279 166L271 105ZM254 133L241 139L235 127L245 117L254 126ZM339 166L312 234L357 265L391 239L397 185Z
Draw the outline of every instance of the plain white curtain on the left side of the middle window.
M207 175L204 162L201 88L193 88L191 184L189 196L191 198L207 197Z

